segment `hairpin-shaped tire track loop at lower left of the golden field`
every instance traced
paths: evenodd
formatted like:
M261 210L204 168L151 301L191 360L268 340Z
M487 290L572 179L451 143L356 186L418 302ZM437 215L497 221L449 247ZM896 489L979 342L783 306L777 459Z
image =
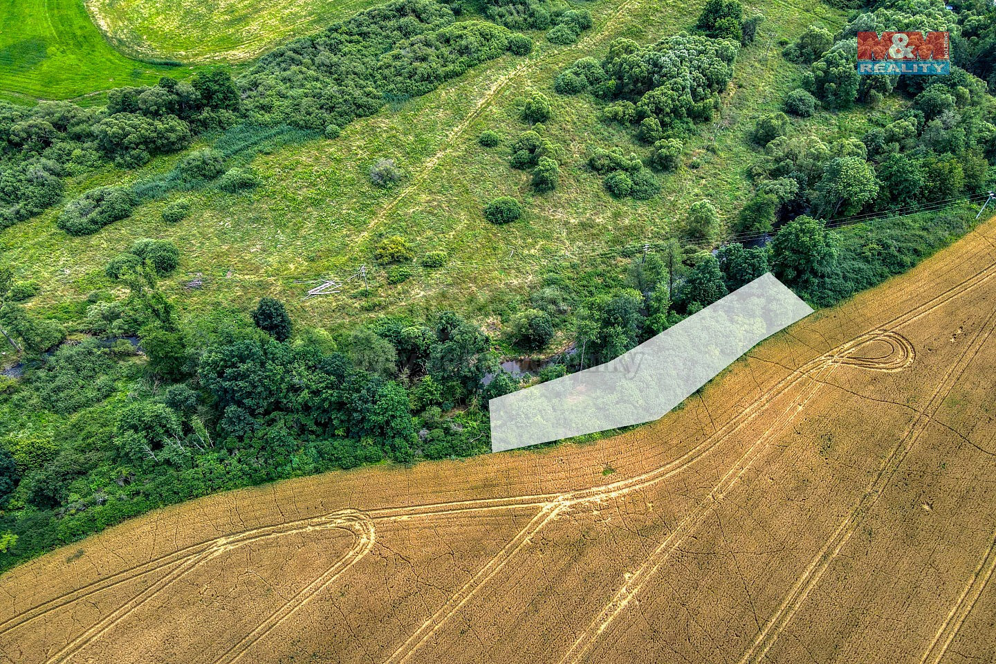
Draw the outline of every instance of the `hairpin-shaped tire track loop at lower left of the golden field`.
M51 655L48 659L46 659L45 664L62 664L63 662L68 661L69 658L71 658L73 655L75 655L77 652L85 648L94 640L100 638L102 635L104 635L109 630L114 628L115 625L124 620L124 618L126 618L133 611L141 607L149 599L156 596L162 590L169 587L174 581L182 578L184 575L196 569L197 567L199 567L204 562L207 562L208 560L216 558L224 553L229 553L235 549L244 547L249 544L262 542L266 540L273 540L275 538L294 535L297 533L309 533L320 530L346 528L351 530L351 532L354 532L354 534L356 535L354 528L357 527L357 525L362 525L361 526L362 533L359 537L355 539L353 549L351 549L350 552L348 552L345 556L337 560L337 562L333 564L333 566L330 567L330 569L327 570L325 574L323 574L319 579L317 579L322 581L322 583L319 584L319 586L313 588L313 586L315 585L314 582L306 586L304 590L296 594L295 597L293 597L288 603L286 603L283 607L281 607L280 609L275 611L271 616L269 616L267 620L264 621L264 623L260 627L253 630L252 634L250 634L250 637L256 635L257 632L259 632L260 628L265 627L265 629L262 632L260 632L258 635L255 636L255 638L252 638L250 641L249 640L250 637L247 637L247 639L244 639L239 644L237 644L237 646L246 644L245 647L247 648L249 645L255 642L255 640L258 640L258 638L262 637L266 632L272 629L273 625L285 619L287 615L296 610L296 608L300 606L300 604L307 601L314 594L314 592L317 591L322 585L331 583L333 580L335 580L335 578L338 578L338 576L342 573L342 571L345 571L345 569L352 566L358 559L360 559L360 557L363 557L363 555L368 553L370 549L373 548L373 522L367 515L364 515L363 513L358 512L356 510L343 510L322 517L303 520L302 522L295 522L295 523L301 525L298 526L297 528L291 528L291 529L287 529L286 524L280 526L269 526L269 527L253 529L250 531L245 531L243 533L231 537L219 538L218 540L215 540L214 542L204 547L201 551L190 553L185 557L179 558L178 560L179 564L176 567L171 569L161 578L156 579L155 582L153 582L147 588L145 588L138 594L134 595L127 601L125 601L124 604L122 604L117 609L109 613L107 616L105 616L95 624L91 625L86 631L84 631L82 634L80 634L75 639L70 641L61 650L59 650L57 653ZM368 534L368 525L369 525L369 534ZM340 564L343 563L344 561L346 562L345 567L341 566ZM153 567L148 571L154 570L156 568L161 569L161 566ZM327 578L327 576L331 572L335 573L333 573L331 578ZM133 574L131 576L121 578L116 582L116 584L122 583L126 580L131 580L144 573L147 573L147 571L142 571L140 574ZM105 587L102 587L100 589L105 589ZM311 590L311 592L307 595L304 595L303 593L308 590ZM292 604L295 601L297 603L295 603L294 606L291 607L290 604ZM56 607L53 606L48 610L52 610L53 608ZM33 615L32 619L40 615L44 615L44 613L48 612L48 610ZM271 621L273 621L273 625L266 626L267 623ZM21 622L19 624L24 624L24 622ZM235 647L233 647L233 650L234 649ZM232 659L224 661L234 661L234 660Z

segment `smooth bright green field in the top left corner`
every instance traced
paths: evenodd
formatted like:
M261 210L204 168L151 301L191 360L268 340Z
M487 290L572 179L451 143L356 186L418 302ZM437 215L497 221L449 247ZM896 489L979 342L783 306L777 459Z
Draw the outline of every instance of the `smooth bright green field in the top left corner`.
M0 99L78 98L182 76L184 69L125 58L83 0L0 0Z

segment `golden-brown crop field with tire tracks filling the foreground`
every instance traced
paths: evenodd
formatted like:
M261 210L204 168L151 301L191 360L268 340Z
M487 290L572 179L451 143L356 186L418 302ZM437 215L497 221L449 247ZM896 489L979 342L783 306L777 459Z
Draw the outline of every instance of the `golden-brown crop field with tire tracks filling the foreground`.
M596 444L221 494L0 578L3 661L996 659L996 223Z

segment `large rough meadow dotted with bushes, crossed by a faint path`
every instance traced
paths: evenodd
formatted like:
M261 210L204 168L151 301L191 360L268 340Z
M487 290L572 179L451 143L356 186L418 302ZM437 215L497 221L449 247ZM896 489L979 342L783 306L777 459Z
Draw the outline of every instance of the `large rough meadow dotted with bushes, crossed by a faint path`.
M584 165L597 146L620 145L641 154L647 148L629 131L600 121L601 103L560 97L551 88L566 66L604 54L614 38L645 43L688 29L700 4L662 9L651 0L586 3L596 25L579 44L556 46L538 35L537 48L525 59L506 56L477 68L432 94L348 125L336 139L259 155L253 166L263 176L261 187L238 196L214 190L184 193L195 211L177 225L161 222L159 213L168 201L160 200L137 209L126 223L71 238L54 226L54 209L4 231L0 247L20 279L43 284L45 292L34 306L45 308L69 306L108 288L107 261L137 237L159 237L180 248L180 270L164 288L187 310L244 310L269 294L288 301L302 323L326 327L444 306L487 317L502 307L498 299L525 292L541 269L561 267L571 273L591 263L586 254L592 251L662 239L702 197L727 219L735 212L750 186L745 170L757 158L746 139L752 118L776 109L801 76L779 55L779 40L794 38L815 21L838 26L840 14L820 5L814 15L813 6L802 0L749 7L767 16L758 42L742 51L721 113L700 127L686 150L685 166L664 176L661 195L650 201L612 198L602 178ZM564 164L560 186L545 195L532 193L528 174L508 166L508 144L528 128L517 105L533 91L555 103L543 132L561 146ZM814 130L830 140L860 129L867 118L855 111L794 121L800 130L807 124L818 127ZM477 143L486 128L503 134L502 145L486 149ZM396 159L405 172L394 189L376 188L367 177L380 157ZM109 169L74 188L144 177L176 158L138 172ZM483 219L483 206L500 194L524 201L523 220L496 227ZM450 264L434 271L415 268L407 282L387 285L384 274L373 270L372 248L391 234L406 237L418 255L446 251ZM301 301L308 286L297 280L345 279L362 265L373 270L369 294L362 294L356 286L360 281L354 280L339 295ZM198 273L204 287L184 290Z

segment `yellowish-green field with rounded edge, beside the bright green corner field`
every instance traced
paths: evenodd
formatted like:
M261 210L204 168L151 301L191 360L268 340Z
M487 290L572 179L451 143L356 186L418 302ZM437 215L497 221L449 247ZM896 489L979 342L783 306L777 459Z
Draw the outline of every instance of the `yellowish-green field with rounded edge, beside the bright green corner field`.
M241 61L378 0L87 0L122 52L182 62Z

